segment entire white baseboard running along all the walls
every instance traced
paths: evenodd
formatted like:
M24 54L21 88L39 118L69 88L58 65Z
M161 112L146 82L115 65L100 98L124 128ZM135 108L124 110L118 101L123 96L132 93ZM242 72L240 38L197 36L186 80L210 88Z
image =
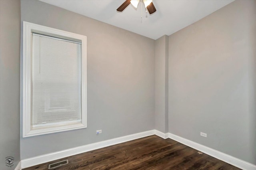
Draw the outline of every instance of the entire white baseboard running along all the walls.
M91 151L91 150L104 148L104 147L107 147L107 146L127 142L127 141L130 141L130 140L135 140L135 139L138 139L138 138L143 138L143 137L146 137L146 136L151 136L151 135L154 135L154 134L161 137L161 138L164 138L164 139L170 138L170 139L176 140L177 142L180 142L182 144L185 144L186 146L189 146L191 148L199 150L200 152L204 152L205 154L208 154L208 155L210 155L214 158L217 158L219 160L227 162L228 164L234 165L234 166L236 166L238 168L241 168L243 170L256 170L256 165L254 165L254 164L250 164L249 162L246 162L244 160L240 160L238 158L235 158L235 157L230 156L228 154L222 153L218 150L214 150L214 149L209 148L207 146L204 146L202 144L198 144L198 143L193 142L191 140L182 138L182 137L177 136L175 134L163 133L163 132L160 132L159 130L149 130L149 131L145 131L145 132L140 132L140 133L136 133L136 134L122 136L122 137L119 137L119 138L113 138L113 139L110 139L110 140L104 140L104 141L101 141L101 142L87 144L87 145L84 145L84 146L78 146L78 147L75 147L75 148L70 148L70 149L59 151L59 152L53 152L53 153L50 153L50 154L44 154L44 155L36 156L36 157L33 157L33 158L24 159L24 160L21 160L21 162L19 162L19 164L16 166L15 170L20 170L21 168L28 168L30 166L43 164L45 162L50 162L50 161L53 161L53 160L57 160L57 159L65 158L65 157L68 157L68 156L88 152L88 151Z

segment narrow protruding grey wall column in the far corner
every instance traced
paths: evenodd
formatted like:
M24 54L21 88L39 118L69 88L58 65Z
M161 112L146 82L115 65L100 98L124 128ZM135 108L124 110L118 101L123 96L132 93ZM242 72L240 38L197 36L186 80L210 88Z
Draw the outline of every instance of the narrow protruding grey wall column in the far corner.
M168 132L168 36L155 42L155 129Z

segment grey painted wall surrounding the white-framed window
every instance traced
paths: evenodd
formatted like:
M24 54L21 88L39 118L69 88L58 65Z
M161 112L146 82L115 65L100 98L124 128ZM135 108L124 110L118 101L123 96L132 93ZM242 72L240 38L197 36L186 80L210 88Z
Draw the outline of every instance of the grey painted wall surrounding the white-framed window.
M154 40L37 0L21 20L87 36L88 71L88 127L21 137L22 159L154 129Z

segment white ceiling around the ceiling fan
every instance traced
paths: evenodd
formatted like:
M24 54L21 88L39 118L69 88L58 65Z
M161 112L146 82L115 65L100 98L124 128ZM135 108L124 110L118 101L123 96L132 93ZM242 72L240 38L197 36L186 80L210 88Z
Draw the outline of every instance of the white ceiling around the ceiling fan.
M137 9L130 4L123 12L117 12L125 0L41 1L156 40L189 26L234 0L153 0L156 12L147 14L147 18L145 8L141 11L141 3Z

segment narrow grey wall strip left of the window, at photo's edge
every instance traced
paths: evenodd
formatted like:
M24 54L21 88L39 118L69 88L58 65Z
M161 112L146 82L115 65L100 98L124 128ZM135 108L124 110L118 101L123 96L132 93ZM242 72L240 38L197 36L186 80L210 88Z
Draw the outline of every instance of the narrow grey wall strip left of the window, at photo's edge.
M13 164L6 164L11 156ZM20 1L0 0L0 169L20 162ZM6 166L8 165L8 166Z

